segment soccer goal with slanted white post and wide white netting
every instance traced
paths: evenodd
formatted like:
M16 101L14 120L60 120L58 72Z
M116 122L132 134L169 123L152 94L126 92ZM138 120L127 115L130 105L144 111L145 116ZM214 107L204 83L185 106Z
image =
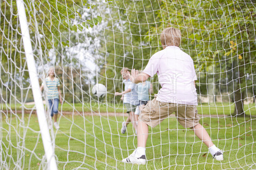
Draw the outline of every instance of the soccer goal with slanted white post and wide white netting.
M0 169L256 169L254 1L0 4ZM200 123L222 161L171 114L149 128L145 165L122 162L137 135L132 122L121 131L121 70L143 71L167 27L194 61ZM152 100L161 86L148 81Z

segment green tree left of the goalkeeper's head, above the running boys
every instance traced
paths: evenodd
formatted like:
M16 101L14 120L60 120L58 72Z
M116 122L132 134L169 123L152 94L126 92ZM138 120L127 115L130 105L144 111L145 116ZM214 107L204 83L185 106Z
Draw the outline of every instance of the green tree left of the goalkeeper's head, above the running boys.
M150 56L159 50L159 41L152 41L156 34L150 30L155 23L158 1L108 1L108 12L104 13L103 20L108 22L104 29L104 41L101 41L100 82L107 84L108 91L122 90L122 76L120 70L123 67L143 70ZM113 6L113 8L111 8ZM136 13L136 11L139 11ZM142 11L142 12L141 12ZM143 12L152 11L152 12ZM156 81L153 77L153 81ZM158 83L153 83L154 89L159 88ZM110 100L113 95L108 95ZM118 98L118 97L117 97Z

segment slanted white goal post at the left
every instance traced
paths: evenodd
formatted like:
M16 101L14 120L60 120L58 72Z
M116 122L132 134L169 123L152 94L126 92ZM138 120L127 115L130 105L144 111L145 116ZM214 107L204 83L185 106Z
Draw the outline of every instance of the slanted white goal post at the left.
M29 27L27 26L27 17L25 15L24 2L17 0L18 18L20 20L20 29L22 31L22 39L24 42L24 51L29 69L29 79L31 80L31 88L34 96L34 103L36 105L36 114L38 115L38 123L43 140L43 147L47 159L48 169L57 169L55 154L53 151L52 140L48 131L48 123L46 121L45 109L43 107L43 100L41 91L39 89L38 72L36 70L36 63L32 52L31 39L29 36Z

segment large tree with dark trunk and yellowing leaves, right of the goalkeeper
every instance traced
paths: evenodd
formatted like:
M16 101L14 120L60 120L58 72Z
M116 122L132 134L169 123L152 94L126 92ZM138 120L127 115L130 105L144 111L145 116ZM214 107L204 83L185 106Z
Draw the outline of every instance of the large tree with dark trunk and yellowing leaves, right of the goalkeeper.
M197 72L207 79L213 76L213 84L222 77L229 78L230 72L232 87L235 87L234 115L244 115L243 101L248 97L245 91L252 84L245 75L255 75L252 61L256 59L253 50L256 10L253 3L175 1L163 2L161 9L158 16L164 24L152 30L160 33L168 25L177 25L183 35L181 48L196 60ZM207 79L199 75L199 84L207 84L209 89Z

